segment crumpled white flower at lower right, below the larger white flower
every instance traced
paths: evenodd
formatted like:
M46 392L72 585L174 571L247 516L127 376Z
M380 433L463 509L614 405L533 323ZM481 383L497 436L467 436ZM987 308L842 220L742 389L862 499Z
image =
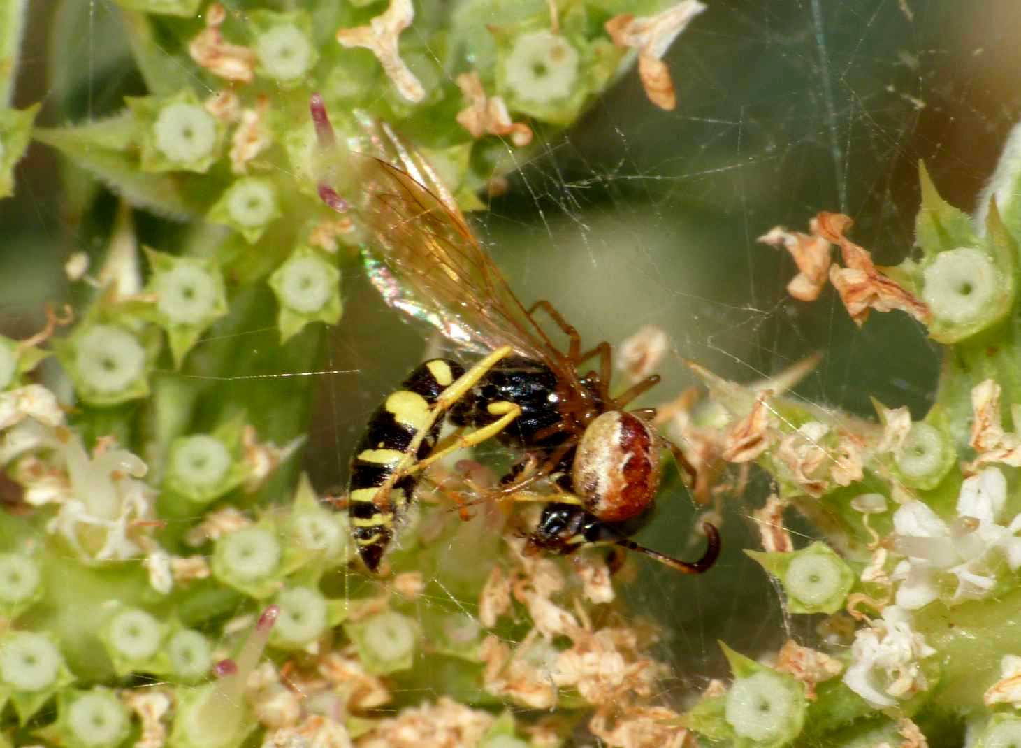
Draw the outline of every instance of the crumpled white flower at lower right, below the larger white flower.
M883 617L855 635L843 682L872 706L895 706L929 684L920 661L935 654L910 623L908 612L890 605Z

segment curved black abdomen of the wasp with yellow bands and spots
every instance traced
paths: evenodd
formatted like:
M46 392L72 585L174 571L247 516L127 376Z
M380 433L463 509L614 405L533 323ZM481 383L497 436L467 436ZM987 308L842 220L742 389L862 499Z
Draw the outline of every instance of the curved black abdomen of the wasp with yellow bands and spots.
M379 568L393 540L394 525L411 501L417 476L398 478L389 492L381 492L380 486L390 479L416 435L429 422L437 398L464 373L448 359L422 364L376 410L358 442L351 460L347 515L358 555L372 571ZM432 452L442 421L436 419L422 439L416 460Z

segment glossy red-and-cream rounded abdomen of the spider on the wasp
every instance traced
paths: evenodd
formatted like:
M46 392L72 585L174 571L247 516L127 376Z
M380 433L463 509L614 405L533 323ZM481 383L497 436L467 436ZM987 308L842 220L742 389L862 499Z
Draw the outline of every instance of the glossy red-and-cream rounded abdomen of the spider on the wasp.
M604 522L641 514L660 486L658 439L637 416L610 411L592 421L578 443L575 492Z

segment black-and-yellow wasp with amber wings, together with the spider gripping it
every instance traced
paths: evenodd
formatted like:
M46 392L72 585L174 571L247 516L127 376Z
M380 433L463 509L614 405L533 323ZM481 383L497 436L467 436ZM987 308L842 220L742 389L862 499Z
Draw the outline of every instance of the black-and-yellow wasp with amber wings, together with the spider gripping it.
M336 161L341 146L320 95L310 109L322 160ZM650 425L653 411L625 410L659 377L611 394L610 344L583 349L577 329L548 301L524 307L428 162L386 124L367 127L377 154L346 154L340 160L347 171L324 174L320 196L340 213L355 207L373 245L366 258L370 276L390 306L484 356L467 371L450 359L425 362L371 417L351 460L347 498L364 565L379 569L426 468L495 437L526 455L501 481L506 495L539 478L560 489L544 504L530 549L570 554L588 544L614 544L684 573L709 569L720 550L712 524L703 525L708 547L693 563L628 539L653 504L664 449L686 464ZM356 205L340 195L338 180L361 195ZM551 341L540 312L565 334L567 350ZM597 367L582 374L592 360ZM463 431L437 449L447 419Z

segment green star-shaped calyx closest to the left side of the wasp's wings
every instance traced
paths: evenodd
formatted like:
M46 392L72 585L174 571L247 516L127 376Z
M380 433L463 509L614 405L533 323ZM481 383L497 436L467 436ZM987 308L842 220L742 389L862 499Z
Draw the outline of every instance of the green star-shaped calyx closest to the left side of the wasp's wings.
M309 322L335 325L340 321L340 271L315 250L295 249L270 277L270 285L280 303L277 323L283 340Z

